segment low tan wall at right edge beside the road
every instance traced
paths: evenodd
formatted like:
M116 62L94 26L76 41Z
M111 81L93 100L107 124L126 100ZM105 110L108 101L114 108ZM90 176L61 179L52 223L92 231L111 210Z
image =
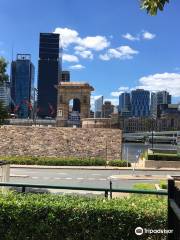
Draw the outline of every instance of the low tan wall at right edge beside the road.
M145 160L145 168L180 168L180 161Z

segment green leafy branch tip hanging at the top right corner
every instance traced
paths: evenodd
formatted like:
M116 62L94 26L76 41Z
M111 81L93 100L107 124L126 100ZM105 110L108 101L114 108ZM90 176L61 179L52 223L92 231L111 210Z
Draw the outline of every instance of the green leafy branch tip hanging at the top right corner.
M163 11L166 3L169 3L169 0L141 0L141 7L154 16L158 10Z

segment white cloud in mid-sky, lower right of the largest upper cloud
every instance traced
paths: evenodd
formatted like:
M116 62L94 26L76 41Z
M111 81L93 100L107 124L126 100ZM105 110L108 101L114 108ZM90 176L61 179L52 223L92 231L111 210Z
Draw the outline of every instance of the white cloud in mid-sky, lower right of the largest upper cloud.
M110 48L105 54L100 54L99 58L104 61L108 61L113 58L120 60L132 59L133 55L138 54L137 50L132 49L129 46L120 46L118 48Z

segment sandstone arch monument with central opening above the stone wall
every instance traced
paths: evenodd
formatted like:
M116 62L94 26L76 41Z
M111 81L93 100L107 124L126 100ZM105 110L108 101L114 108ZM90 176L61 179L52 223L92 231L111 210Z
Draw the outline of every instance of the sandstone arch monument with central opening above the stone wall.
M69 101L74 100L75 110L78 111L80 121L90 117L90 98L94 88L88 83L61 82L58 86L57 126L68 126Z

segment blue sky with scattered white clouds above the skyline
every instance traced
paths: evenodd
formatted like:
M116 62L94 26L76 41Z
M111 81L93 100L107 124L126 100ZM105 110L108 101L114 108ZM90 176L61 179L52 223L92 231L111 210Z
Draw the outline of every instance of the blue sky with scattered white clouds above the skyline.
M63 69L71 81L89 82L94 98L136 87L168 90L180 101L180 1L151 17L138 0L0 0L0 55L32 54L40 32L59 32Z

